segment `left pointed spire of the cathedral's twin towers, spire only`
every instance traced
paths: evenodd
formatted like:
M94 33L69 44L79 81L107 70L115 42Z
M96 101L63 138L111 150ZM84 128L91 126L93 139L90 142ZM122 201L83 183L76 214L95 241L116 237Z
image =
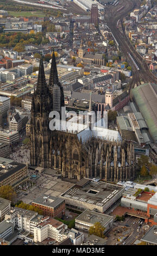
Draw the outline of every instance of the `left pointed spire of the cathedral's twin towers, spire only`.
M45 87L46 87L45 72L43 68L43 57L41 56L36 92L42 94L44 92Z

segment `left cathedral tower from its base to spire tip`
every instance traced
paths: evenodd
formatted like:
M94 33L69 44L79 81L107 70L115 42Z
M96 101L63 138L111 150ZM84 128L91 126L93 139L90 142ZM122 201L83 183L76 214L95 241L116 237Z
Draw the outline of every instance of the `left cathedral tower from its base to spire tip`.
M30 164L47 167L49 151L49 113L52 111L52 95L45 80L43 60L40 60L37 87L32 99L30 121Z

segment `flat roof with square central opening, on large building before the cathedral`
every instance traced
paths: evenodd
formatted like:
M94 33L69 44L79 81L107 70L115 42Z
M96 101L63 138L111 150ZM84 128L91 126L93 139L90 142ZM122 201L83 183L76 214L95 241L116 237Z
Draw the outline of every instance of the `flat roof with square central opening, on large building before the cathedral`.
M106 182L93 182L90 179L80 180L61 197L86 202L93 205L103 206L114 198L124 187Z

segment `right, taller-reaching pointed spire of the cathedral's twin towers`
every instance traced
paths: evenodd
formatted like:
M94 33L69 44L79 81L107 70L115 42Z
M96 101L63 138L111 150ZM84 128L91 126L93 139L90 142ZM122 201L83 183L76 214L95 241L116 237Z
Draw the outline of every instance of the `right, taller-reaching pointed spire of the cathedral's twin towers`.
M53 86L54 84L59 85L59 80L58 80L58 72L56 69L56 61L55 61L55 54L54 54L54 49L52 53L52 63L51 63L51 71L49 75L49 86Z

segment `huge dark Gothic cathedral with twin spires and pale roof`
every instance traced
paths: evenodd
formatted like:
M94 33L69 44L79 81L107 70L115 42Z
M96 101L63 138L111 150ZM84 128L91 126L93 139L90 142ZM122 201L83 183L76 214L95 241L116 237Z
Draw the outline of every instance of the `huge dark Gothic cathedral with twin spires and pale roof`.
M134 145L123 142L117 131L102 127L91 129L91 126L90 129L79 132L50 130L49 113L61 113L61 107L64 107L64 93L58 79L53 51L49 82L46 83L41 58L37 87L32 100L32 166L59 170L62 177L68 179L99 177L105 181L120 181L134 178Z

